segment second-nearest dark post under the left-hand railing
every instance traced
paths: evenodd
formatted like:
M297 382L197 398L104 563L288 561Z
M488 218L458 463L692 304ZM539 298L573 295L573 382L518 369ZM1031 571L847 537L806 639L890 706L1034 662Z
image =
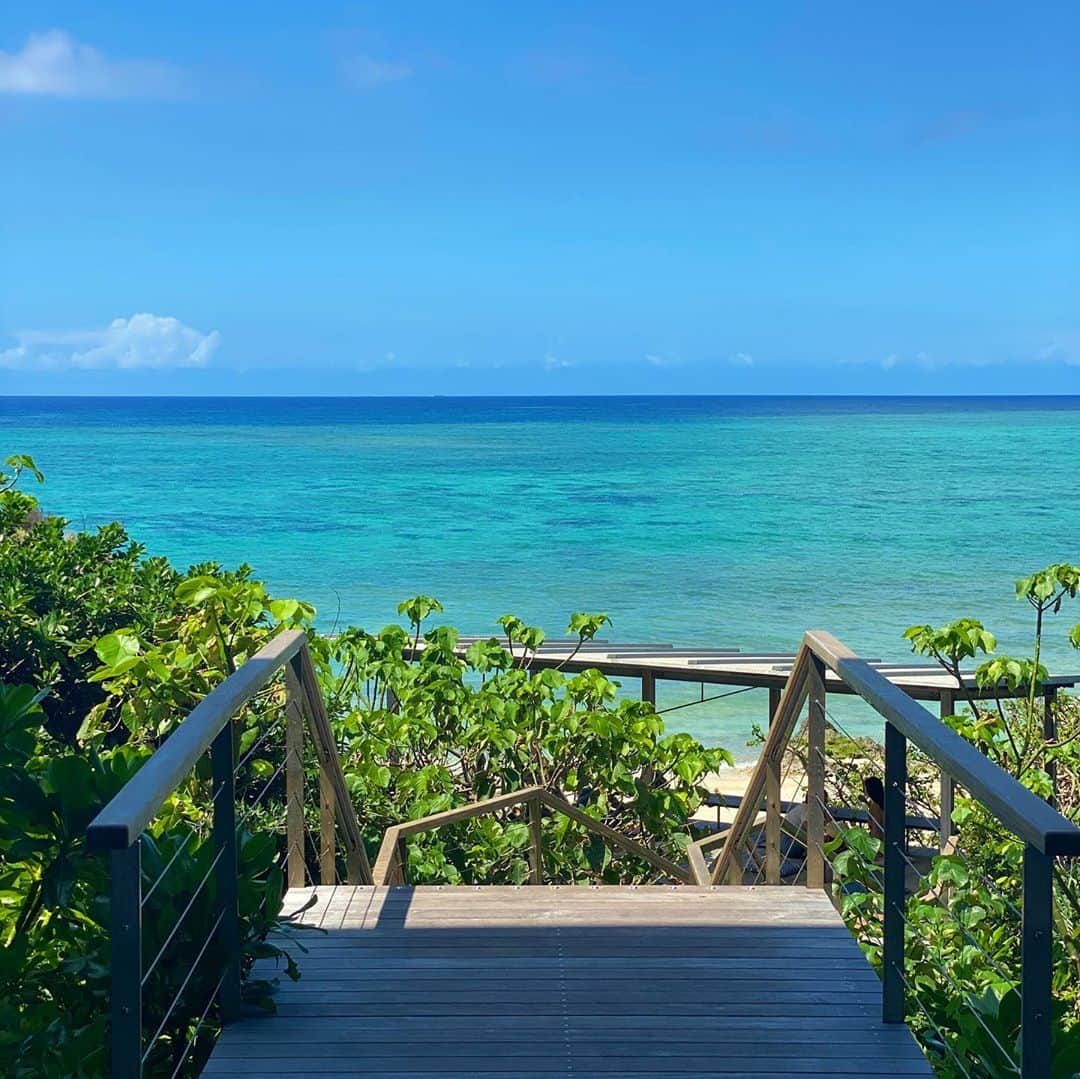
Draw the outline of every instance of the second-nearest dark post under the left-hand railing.
M221 982L221 1022L240 1016L240 914L237 906L237 805L233 783L232 724L227 723L211 746L214 777L214 854L220 851L214 880L221 916L218 940L225 977Z

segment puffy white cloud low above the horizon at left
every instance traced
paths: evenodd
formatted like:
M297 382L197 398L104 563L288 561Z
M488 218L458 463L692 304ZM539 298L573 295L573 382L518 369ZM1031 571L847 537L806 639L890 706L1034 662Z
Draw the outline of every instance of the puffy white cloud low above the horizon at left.
M16 370L139 370L205 367L221 341L177 319L133 314L104 329L24 329L0 351L0 367Z

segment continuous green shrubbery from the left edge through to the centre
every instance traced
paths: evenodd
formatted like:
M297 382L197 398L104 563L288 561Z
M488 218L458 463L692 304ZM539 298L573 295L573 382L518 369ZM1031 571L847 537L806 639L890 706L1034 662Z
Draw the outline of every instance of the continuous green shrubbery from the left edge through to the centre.
M108 864L86 849L86 825L184 716L283 626L311 635L323 693L352 797L374 854L401 820L540 783L572 793L586 813L679 857L702 781L724 750L666 734L651 705L617 699L598 672L530 670L543 632L514 618L462 661L449 626L424 632L437 601L417 596L408 625L311 629L307 604L271 596L246 566L178 571L147 557L120 524L68 530L15 481L41 476L30 458L0 475L0 1058L18 1076L98 1075L106 1065ZM571 617L584 643L605 615ZM422 642L418 662L411 651ZM280 955L293 932L275 917L283 886L284 781L280 688L258 694L233 727L245 970ZM318 783L312 769L312 783ZM212 925L212 890L188 896L208 873L210 770L181 784L144 839L144 949L184 957ZM648 879L575 822L544 822L553 880ZM409 876L424 881L525 879L527 826L477 819L409 846ZM310 854L312 862L318 852ZM167 871L167 872L166 872ZM302 942L301 942L302 943ZM190 961L190 955L188 960ZM145 985L148 1014L165 1014L179 977L162 961ZM284 975L298 976L291 960ZM248 979L251 1007L273 1008L272 985ZM195 968L180 987L147 1061L173 1070L195 1037L192 1070L212 1029L199 1027L213 989ZM197 1033L198 1031L198 1033Z

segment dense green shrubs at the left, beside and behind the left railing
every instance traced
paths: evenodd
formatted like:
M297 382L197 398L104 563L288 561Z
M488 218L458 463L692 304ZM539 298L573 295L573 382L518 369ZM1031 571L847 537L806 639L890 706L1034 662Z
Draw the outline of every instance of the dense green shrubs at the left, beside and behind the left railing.
M313 612L271 599L246 567L184 575L145 558L117 524L69 534L14 489L19 473L40 480L32 460L10 458L8 467L0 474L0 1058L19 1076L98 1075L109 875L105 857L86 849L86 826L234 662L279 624ZM264 700L241 713L235 736L245 752L280 711ZM242 807L264 787L265 765L249 754L238 774ZM153 888L144 954L149 960L165 948L144 990L154 1023L214 922L210 795L200 766L141 840L144 892ZM280 840L256 826L264 821L254 812L238 837L245 969L279 955L273 939L287 928L278 918ZM291 961L285 972L297 974ZM173 1070L216 976L212 965L195 970L149 1074ZM267 1007L271 989L248 979L245 998ZM207 1036L198 1036L192 1058Z

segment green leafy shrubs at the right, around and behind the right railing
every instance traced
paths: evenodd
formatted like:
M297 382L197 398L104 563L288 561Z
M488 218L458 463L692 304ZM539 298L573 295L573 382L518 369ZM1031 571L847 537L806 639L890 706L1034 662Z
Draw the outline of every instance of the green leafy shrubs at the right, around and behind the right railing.
M1080 702L1061 698L1055 737L1047 738L1039 703L1047 670L1040 661L1047 616L1080 589L1080 567L1059 563L1016 582L1017 597L1035 611L1030 656L998 655L993 633L971 618L947 625L914 625L904 636L914 651L934 658L959 677L962 663L983 659L976 683L986 700L968 699L950 727L989 759L1080 821ZM1080 647L1080 626L1068 634ZM959 682L958 682L959 685ZM995 688L1020 693L1002 700ZM936 817L927 783L929 765L913 754L907 798L916 812ZM848 804L860 786L839 795ZM939 1074L1015 1074L1021 1033L1021 917L1024 844L977 800L957 792L956 836L949 852L909 852L926 873L908 881L905 977L908 1020ZM878 967L881 962L881 845L852 828L832 845L837 894L848 925ZM914 866L913 866L914 867ZM909 878L913 876L908 873ZM1054 1076L1080 1071L1080 871L1055 866Z

